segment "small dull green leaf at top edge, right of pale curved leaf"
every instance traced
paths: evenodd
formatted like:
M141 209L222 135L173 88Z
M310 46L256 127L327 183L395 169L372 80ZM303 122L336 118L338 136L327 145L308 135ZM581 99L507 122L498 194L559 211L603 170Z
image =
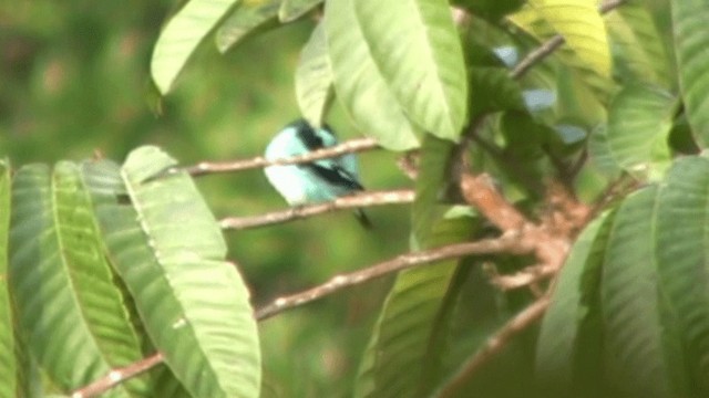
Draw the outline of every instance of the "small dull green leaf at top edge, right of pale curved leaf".
M246 35L278 14L280 0L246 0L240 2L216 32L217 50L225 53Z

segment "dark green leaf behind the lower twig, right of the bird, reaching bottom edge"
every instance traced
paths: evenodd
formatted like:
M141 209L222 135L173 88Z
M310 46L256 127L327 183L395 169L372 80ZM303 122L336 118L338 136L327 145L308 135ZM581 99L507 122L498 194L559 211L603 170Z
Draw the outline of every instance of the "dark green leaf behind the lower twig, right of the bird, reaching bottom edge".
M443 219L439 203L453 143L427 135L417 200L413 205L413 239L427 249L469 239L472 221L467 217ZM417 249L418 249L417 248ZM360 365L356 397L413 397L420 388L430 388L434 375L424 375L435 321L459 261L444 261L401 272L384 302ZM401 371L407 369L407 371ZM425 380L424 380L425 379Z

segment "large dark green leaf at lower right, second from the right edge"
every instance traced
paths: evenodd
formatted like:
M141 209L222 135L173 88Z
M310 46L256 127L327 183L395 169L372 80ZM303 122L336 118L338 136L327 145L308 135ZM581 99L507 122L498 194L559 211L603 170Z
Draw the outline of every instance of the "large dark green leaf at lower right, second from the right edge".
M671 362L681 353L680 338L671 333L677 320L662 316L658 289L658 191L651 186L623 201L605 252L605 374L616 394L628 398L687 396L686 390L678 390L685 380L676 379L684 364Z

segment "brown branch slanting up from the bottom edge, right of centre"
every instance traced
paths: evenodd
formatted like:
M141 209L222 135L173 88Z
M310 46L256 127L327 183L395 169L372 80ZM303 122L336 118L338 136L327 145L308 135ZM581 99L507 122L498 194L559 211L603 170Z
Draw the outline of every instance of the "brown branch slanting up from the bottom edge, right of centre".
M465 384L475 374L475 371L490 360L490 358L495 356L495 354L500 353L500 350L504 348L515 335L540 320L549 306L549 303L551 301L548 296L542 296L507 322L487 339L477 353L475 353L475 355L463 365L458 374L455 374L435 396L438 398L460 396L461 390L465 387Z

